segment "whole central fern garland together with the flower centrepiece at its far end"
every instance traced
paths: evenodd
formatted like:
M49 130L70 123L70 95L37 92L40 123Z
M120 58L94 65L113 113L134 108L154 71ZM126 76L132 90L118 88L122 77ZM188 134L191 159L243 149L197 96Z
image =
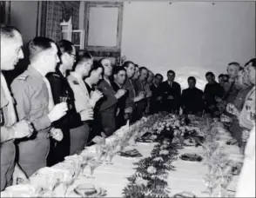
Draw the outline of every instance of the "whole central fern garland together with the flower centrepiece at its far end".
M128 178L130 182L123 190L125 198L169 197L167 171L173 170L172 162L177 158L178 149L183 145L185 135L197 133L197 128L188 126L188 122L187 117L164 113L158 114L158 119L152 119L149 127L140 125L142 129L139 130L146 129L147 132L157 135L156 140L160 141L153 148L152 156L134 163L137 165L136 172ZM165 135L169 136L170 140L161 140Z

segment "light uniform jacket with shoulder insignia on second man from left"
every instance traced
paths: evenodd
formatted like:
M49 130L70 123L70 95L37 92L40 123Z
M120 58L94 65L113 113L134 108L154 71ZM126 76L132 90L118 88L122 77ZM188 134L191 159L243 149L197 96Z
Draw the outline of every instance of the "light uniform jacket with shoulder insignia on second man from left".
M11 83L11 90L17 102L17 117L32 122L37 132L49 132L49 94L44 76L29 66Z

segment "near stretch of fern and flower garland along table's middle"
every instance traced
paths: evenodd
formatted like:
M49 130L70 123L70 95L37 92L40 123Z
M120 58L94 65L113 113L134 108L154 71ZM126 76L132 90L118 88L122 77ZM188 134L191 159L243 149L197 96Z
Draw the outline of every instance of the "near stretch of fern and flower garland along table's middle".
M174 169L172 162L178 155L175 145L163 141L152 150L151 156L134 163L137 165L134 175L128 178L129 184L123 190L125 198L133 197L169 197L167 171Z

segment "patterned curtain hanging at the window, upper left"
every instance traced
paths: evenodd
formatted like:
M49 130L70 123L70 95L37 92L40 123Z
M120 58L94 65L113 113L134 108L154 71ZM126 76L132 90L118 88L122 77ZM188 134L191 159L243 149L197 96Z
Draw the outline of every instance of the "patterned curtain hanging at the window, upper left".
M79 26L79 7L80 2L47 2L46 11L46 32L45 36L51 38L53 41L62 39L60 23L63 21L63 6L72 8L72 25L73 29L78 29Z

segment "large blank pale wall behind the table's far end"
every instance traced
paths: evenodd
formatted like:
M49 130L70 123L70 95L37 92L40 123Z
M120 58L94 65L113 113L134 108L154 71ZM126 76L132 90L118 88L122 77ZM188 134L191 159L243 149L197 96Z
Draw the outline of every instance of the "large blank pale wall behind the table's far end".
M132 2L124 5L122 55L166 76L205 85L205 72L226 72L255 56L254 2Z

